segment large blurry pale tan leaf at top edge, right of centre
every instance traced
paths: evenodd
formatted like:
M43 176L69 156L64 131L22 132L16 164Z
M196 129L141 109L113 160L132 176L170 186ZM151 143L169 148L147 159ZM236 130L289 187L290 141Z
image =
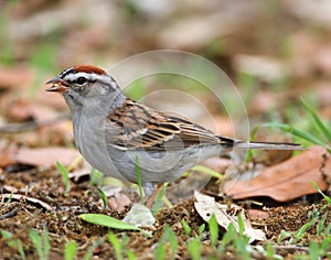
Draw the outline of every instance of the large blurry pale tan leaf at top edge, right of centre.
M185 17L158 32L158 42L168 48L199 48L213 39L244 31L261 15L258 1L223 2L211 13ZM237 18L242 19L237 19Z

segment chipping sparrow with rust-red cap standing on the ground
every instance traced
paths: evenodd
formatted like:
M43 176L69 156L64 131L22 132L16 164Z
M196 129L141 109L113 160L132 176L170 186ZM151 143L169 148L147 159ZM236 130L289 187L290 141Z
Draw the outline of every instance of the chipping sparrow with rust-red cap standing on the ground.
M221 137L127 98L99 67L79 65L49 80L63 94L75 143L85 160L106 175L137 183L137 160L147 195L199 162L232 149L300 150L293 143L247 142Z

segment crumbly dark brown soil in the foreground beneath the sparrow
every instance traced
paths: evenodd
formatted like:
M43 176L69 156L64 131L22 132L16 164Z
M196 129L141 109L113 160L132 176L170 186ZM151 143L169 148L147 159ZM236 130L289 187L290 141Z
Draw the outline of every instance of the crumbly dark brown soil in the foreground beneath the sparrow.
M62 176L57 171L39 171L36 169L25 172L3 172L1 174L1 186L6 188L17 188L15 194L23 194L28 197L40 199L49 204L53 210L46 210L42 205L29 199L14 199L11 202L3 199L0 207L0 229L13 235L13 239L23 242L24 253L29 259L36 258L36 251L32 243L29 232L31 229L42 231L47 228L51 241L51 257L54 259L63 258L64 246L70 240L75 240L78 245L78 257L83 257L87 249L99 238L107 239L108 228L83 221L78 215L85 213L102 213L108 216L122 219L127 207L122 213L111 209L103 209L97 188L89 185L88 180L81 183L72 183L72 191L64 192ZM29 193L22 193L22 188L29 188ZM327 204L305 204L297 203L290 206L268 207L264 212L264 217L253 217L255 228L266 231L269 240L276 241L282 229L296 231L306 224L314 210L321 215L330 212L331 207ZM126 232L128 237L127 247L138 257L152 259L154 249L160 240L164 227L169 226L177 235L179 250L177 258L186 257L185 234L181 220L184 219L191 227L190 237L199 234L199 227L204 223L194 208L193 198L186 199L173 208L163 208L157 215L157 223L152 230L152 237L147 237L141 232ZM331 216L328 215L325 224L330 223ZM223 230L224 231L224 230ZM222 232L220 232L220 238ZM122 239L124 232L114 230ZM316 228L308 229L302 246L307 246L310 239L317 239ZM299 241L300 243L300 241ZM207 225L205 236L202 238L202 254L215 257L215 251L210 246ZM18 250L8 246L6 238L0 239L1 258L19 258ZM102 242L93 252L100 258L114 257L114 249L109 242ZM222 257L222 256L217 256ZM226 257L226 256L223 256ZM227 254L228 257L228 254ZM234 257L234 256L233 256Z

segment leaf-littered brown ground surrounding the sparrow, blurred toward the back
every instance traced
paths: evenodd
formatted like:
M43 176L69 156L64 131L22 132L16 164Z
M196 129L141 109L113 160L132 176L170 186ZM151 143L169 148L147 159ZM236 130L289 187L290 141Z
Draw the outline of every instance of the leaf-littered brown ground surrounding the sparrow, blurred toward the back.
M310 183L314 181L330 195L330 1L77 2L0 1L1 259L20 259L19 245L28 259L39 258L31 230L47 230L50 258L63 259L68 241L76 241L77 258L89 251L86 258L114 258L109 229L78 216L103 213L122 219L131 203L139 201L139 194L125 186L116 196L107 197L109 207L103 209L98 187L86 175L84 163L76 161L68 108L60 95L45 91L44 83L77 64L103 67L130 98L218 134L248 140L256 126L285 123L278 131L275 126L259 129L255 140L299 142L305 148L318 144L310 155L302 151L249 158L247 164L238 166L243 173L254 166L265 171L248 183L237 181L242 175L236 175L235 165L231 174L241 185L232 198L245 208L252 225L266 234L265 241L253 243L254 250L244 246L242 251L252 258L266 258L258 252L260 245L266 251L270 243L275 253L293 259L298 253L307 257L316 247L313 241L331 243L330 204ZM162 53L151 52L156 50L172 50L168 52L170 58L156 58L158 55L152 54ZM211 66L201 63L205 59ZM152 75L143 74L148 69ZM220 75L222 80L214 84ZM225 87L228 83L233 91ZM229 205L231 197L223 193L220 181L228 163L215 160L221 177L212 178L202 192ZM71 174L83 169L82 177L70 178L68 192L55 166L57 161L70 167ZM172 202L170 194L168 197ZM154 258L166 225L179 240L177 259L190 258L188 245L196 236L203 257L237 259L239 243L225 245L223 251L211 246L212 232L191 197L161 208L154 227L148 228L152 237L110 230L140 259ZM317 221L307 226L305 235L296 236L314 217ZM192 229L190 235L183 219ZM200 234L203 224L205 230ZM324 232L317 235L319 229ZM218 243L226 234L220 228L216 246L222 246ZM45 241L40 245L46 247ZM164 245L169 256L171 245ZM330 257L329 245L324 252ZM128 251L125 254L129 258Z

